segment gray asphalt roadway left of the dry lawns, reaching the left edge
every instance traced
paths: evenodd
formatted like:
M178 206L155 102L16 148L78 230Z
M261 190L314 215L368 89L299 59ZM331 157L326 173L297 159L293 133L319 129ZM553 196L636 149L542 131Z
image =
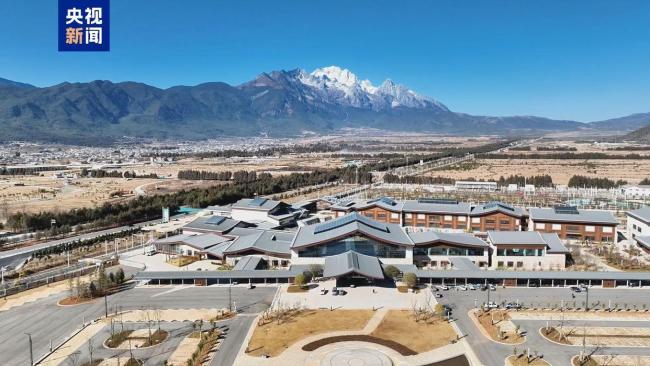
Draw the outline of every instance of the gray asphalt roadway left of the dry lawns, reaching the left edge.
M241 320L232 321L228 334L230 346L224 347L223 358L234 360L236 352L243 341L253 316L265 310L275 295L275 287L257 287L249 290L246 287L233 287L232 299L238 311L243 314ZM29 349L27 336L33 339L34 358L39 359L49 350L50 340L54 345L61 343L64 338L78 329L84 319L96 319L104 315L104 302L98 299L87 305L61 307L56 303L66 294L50 296L33 303L0 312L0 365L24 366L29 364ZM117 309L134 310L142 307L159 309L198 309L220 308L228 306L227 287L175 287L175 288L135 288L108 297L109 312ZM230 335L226 336L230 338ZM237 342L239 342L237 344ZM230 354L234 352L235 354ZM221 363L219 365L227 365Z

